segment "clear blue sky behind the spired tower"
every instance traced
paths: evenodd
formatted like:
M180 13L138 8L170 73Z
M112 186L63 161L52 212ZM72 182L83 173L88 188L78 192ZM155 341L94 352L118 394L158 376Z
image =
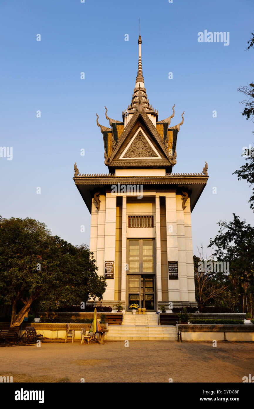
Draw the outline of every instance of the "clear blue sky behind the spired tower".
M232 175L244 163L243 146L254 142L237 92L254 81L254 50L244 51L254 29L251 0L1 0L0 146L13 147L13 160L0 158L0 214L44 221L53 234L89 244L90 214L73 165L82 173L108 171L95 113L108 126L104 105L121 120L131 102L139 17L149 101L159 119L176 104L172 125L185 111L174 172L201 172L208 162L208 185L192 213L197 254L217 233L216 222L232 220L233 212L253 225L251 189ZM198 43L204 30L229 31L230 44Z

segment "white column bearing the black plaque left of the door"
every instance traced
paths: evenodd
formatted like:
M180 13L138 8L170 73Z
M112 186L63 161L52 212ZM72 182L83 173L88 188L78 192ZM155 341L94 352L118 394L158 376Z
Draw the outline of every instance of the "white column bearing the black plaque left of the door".
M104 261L115 262L115 226L116 226L117 197L111 192L106 193L106 215L105 215L105 242ZM114 279L108 279L107 288L103 299L105 301L115 300L115 274Z

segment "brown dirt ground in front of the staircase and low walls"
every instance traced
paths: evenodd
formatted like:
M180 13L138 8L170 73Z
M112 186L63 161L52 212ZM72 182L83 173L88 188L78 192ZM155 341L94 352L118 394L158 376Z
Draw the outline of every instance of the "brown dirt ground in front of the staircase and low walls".
M0 348L0 375L13 382L243 382L254 373L254 343L45 342ZM83 378L83 379L82 379Z

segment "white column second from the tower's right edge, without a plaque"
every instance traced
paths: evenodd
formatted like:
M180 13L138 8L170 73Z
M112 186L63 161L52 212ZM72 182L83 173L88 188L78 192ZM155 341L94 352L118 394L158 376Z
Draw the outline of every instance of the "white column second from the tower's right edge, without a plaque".
M177 244L180 301L188 301L183 200L177 195Z

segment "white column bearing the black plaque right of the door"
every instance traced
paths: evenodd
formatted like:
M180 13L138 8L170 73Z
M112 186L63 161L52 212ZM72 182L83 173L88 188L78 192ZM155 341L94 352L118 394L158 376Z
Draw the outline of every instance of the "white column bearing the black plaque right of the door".
M176 194L167 192L165 196L168 261L178 261ZM180 301L179 280L168 280L168 301Z

